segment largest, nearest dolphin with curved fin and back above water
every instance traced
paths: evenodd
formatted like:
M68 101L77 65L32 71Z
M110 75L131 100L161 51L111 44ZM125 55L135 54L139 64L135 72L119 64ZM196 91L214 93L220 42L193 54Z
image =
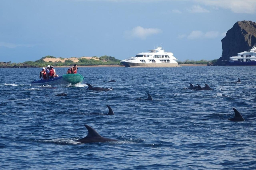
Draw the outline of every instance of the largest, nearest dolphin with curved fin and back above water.
M94 143L94 142L110 142L110 141L120 141L118 139L111 139L107 137L102 137L96 130L88 125L84 125L88 130L88 135L78 141L81 143Z

